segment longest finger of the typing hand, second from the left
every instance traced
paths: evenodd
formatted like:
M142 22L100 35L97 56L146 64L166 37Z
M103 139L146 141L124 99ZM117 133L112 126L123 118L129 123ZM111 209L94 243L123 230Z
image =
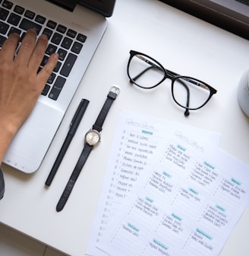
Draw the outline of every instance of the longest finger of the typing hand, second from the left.
M27 30L27 33L20 44L20 48L17 53L16 61L28 65L30 56L36 46L36 30Z

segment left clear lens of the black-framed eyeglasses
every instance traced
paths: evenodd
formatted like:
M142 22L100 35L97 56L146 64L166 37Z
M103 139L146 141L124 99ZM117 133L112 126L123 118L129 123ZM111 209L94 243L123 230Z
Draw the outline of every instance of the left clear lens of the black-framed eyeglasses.
M153 88L162 82L165 70L150 57L137 54L133 56L128 66L128 75L135 85L142 88Z

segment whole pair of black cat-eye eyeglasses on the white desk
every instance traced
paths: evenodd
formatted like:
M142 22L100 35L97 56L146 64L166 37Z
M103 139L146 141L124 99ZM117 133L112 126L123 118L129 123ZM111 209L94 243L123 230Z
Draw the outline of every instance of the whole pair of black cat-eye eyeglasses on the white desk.
M134 85L144 89L155 88L166 78L172 80L172 97L176 104L185 109L184 115L188 117L189 110L203 107L216 89L196 78L178 75L165 69L156 59L134 50L130 51L128 61L128 77Z

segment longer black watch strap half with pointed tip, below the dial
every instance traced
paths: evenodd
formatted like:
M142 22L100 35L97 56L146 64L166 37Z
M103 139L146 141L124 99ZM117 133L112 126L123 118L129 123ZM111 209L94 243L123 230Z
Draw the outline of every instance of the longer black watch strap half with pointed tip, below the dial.
M85 162L87 162L87 158L90 155L90 152L92 151L93 146L88 145L87 143L85 143L84 145L84 149L82 150L80 157L77 161L77 164L75 165L74 171L72 172L68 183L63 191L63 193L61 194L61 198L60 200L58 200L57 206L56 206L56 211L60 212L65 204L68 201L68 197L71 194L71 191L73 190L74 184L77 181L77 178L80 175L80 171L82 170Z

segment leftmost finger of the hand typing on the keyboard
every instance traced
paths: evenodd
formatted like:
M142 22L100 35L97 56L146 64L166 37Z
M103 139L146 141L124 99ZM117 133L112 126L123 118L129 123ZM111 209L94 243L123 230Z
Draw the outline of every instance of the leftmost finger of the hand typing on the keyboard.
M0 61L10 60L11 62L14 59L14 53L17 49L18 41L20 40L20 37L18 34L11 34L7 40L5 40L5 43L2 45L2 50L0 52L1 59Z

